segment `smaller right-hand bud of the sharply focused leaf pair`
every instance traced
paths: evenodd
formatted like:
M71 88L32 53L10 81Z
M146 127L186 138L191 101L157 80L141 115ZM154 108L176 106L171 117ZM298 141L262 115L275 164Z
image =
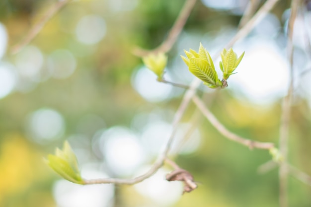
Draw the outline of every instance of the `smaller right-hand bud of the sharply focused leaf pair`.
M223 78L227 80L230 75L234 74L233 71L236 69L238 64L241 62L244 53L237 58L236 53L230 48L228 51L226 49L220 54L222 61L219 63L220 69L223 71Z

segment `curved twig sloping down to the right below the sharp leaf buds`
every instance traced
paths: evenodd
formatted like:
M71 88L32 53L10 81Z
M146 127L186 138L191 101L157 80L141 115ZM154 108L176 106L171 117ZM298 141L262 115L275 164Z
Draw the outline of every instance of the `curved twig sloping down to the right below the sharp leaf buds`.
M210 123L226 138L235 141L237 143L240 143L244 146L252 148L258 148L258 149L270 149L274 146L273 143L270 142L260 142L260 141L253 141L247 138L242 138L232 132L230 132L222 123L220 123L217 118L209 111L209 109L204 105L202 100L194 95L192 97L193 102L198 107L198 109L201 110L202 114L210 121Z

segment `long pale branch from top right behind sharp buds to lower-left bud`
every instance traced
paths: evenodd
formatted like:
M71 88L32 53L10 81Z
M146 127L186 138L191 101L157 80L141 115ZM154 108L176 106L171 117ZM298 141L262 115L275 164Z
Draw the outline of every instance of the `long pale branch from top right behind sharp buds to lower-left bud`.
M257 13L252 17L252 19L250 20L250 23L247 23L244 27L242 27L240 29L240 32L238 32L233 39L230 41L230 43L227 45L226 48L230 48L233 46L233 44L239 40L242 39L243 37L245 37L248 32L255 26L257 19L260 18L261 16L263 16L264 14L266 14L270 9L273 8L273 6L275 5L275 3L278 0L268 0L266 1L266 3L257 11ZM268 4L268 5L267 5ZM191 9L190 9L191 10ZM218 53L219 54L219 53ZM216 58L218 57L218 55L216 56ZM216 59L215 58L215 59ZM200 85L201 80L199 79L195 79L191 85L190 88L186 91L183 100L181 101L181 104L175 114L174 117L174 121L172 124L172 133L170 135L170 137L168 138L168 141L165 145L165 149L163 151L163 153L161 153L157 159L157 161L153 164L152 168L145 174L133 178L133 179L115 179L115 178L105 178L105 179L94 179L94 180L85 180L85 184L102 184L102 183L115 183L115 184L135 184L135 183L139 183L142 182L143 180L149 178L150 176L152 176L153 174L156 173L156 171L163 165L163 161L166 157L166 155L168 154L170 147L171 147L171 143L173 141L174 135L176 133L176 128L177 125L185 111L185 109L187 108L190 100L192 99L192 97L195 94L195 91L197 89L197 87Z

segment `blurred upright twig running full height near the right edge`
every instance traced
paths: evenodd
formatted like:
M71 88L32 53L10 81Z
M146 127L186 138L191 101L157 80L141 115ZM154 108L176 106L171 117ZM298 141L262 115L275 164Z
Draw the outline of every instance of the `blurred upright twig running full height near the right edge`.
M297 15L298 10L298 1L299 0L292 0L291 4L291 15L289 18L288 23L288 41L287 41L287 56L288 61L290 64L290 85L288 88L287 96L283 99L283 107L282 107L282 117L281 117L281 124L280 124L280 138L279 138L279 145L280 145L280 152L283 156L283 162L280 164L279 168L279 202L280 207L287 207L288 206L288 198L287 198L287 163L288 160L288 133L289 133L289 122L290 122L290 113L291 113L291 102L293 96L293 89L294 89L294 67L293 67L293 32L294 32L294 23Z

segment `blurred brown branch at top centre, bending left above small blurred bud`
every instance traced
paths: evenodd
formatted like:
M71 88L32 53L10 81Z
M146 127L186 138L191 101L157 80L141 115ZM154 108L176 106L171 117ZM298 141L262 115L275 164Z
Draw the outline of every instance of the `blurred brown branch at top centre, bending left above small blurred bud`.
M143 57L150 53L159 53L159 52L166 53L167 51L169 51L176 42L178 35L182 31L182 28L184 27L195 2L196 0L185 1L185 4L182 10L180 11L170 32L168 33L167 38L157 48L153 50L144 50L141 48L135 48L133 50L133 54L136 56Z

